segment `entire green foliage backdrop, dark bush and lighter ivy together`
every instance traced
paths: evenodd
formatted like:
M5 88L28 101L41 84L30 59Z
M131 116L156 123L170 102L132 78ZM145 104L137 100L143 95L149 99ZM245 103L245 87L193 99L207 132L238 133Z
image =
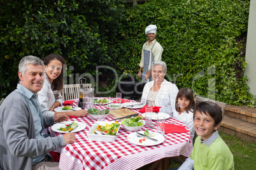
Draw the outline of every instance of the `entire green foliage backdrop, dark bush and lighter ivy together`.
M155 0L126 10L121 0L0 2L2 97L15 89L18 62L25 55L43 59L60 53L68 69L73 66L69 76L101 74L111 86L115 75L96 73L96 65L136 76L145 27L155 24L167 80L196 95L255 107L245 76L248 0Z

